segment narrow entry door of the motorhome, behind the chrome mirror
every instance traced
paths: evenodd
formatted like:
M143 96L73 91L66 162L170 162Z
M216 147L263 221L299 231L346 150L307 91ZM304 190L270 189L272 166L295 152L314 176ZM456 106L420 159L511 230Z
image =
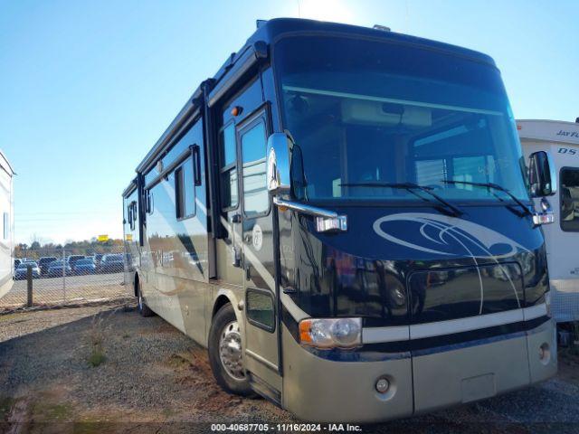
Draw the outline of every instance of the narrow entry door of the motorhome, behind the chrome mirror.
M276 330L273 224L266 183L267 113L238 127L242 177L242 255L245 290L245 363L254 387L281 391ZM271 396L279 400L279 396Z

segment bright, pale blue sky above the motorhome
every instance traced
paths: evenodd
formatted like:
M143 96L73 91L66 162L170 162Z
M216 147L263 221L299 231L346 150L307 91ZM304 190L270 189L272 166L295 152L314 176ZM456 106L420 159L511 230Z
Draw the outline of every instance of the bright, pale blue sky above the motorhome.
M301 16L490 54L517 118L579 116L579 2L0 0L0 148L15 238L120 237L120 194L255 20Z

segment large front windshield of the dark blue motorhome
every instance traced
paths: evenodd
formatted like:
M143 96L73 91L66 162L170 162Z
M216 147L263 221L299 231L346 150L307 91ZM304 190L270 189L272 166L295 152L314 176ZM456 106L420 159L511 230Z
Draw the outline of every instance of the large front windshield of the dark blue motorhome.
M443 52L362 39L277 42L284 127L303 201L528 200L515 122L496 68ZM449 181L467 184L449 183Z

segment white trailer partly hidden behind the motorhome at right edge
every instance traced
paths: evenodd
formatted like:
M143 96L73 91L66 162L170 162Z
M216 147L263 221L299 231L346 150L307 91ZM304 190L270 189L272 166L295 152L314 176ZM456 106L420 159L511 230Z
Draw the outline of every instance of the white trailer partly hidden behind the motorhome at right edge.
M525 155L536 151L549 151L559 174L557 193L549 198L555 212L555 224L543 226L552 294L551 306L557 322L578 321L579 123L517 120L517 131Z

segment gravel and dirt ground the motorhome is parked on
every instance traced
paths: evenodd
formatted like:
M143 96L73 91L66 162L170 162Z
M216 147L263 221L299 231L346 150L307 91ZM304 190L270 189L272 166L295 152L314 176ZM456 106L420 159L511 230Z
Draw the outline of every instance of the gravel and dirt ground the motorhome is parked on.
M0 432L202 432L212 422L296 421L268 401L222 392L204 349L132 306L0 316L0 384ZM579 359L561 356L555 379L524 391L363 430L579 432Z

